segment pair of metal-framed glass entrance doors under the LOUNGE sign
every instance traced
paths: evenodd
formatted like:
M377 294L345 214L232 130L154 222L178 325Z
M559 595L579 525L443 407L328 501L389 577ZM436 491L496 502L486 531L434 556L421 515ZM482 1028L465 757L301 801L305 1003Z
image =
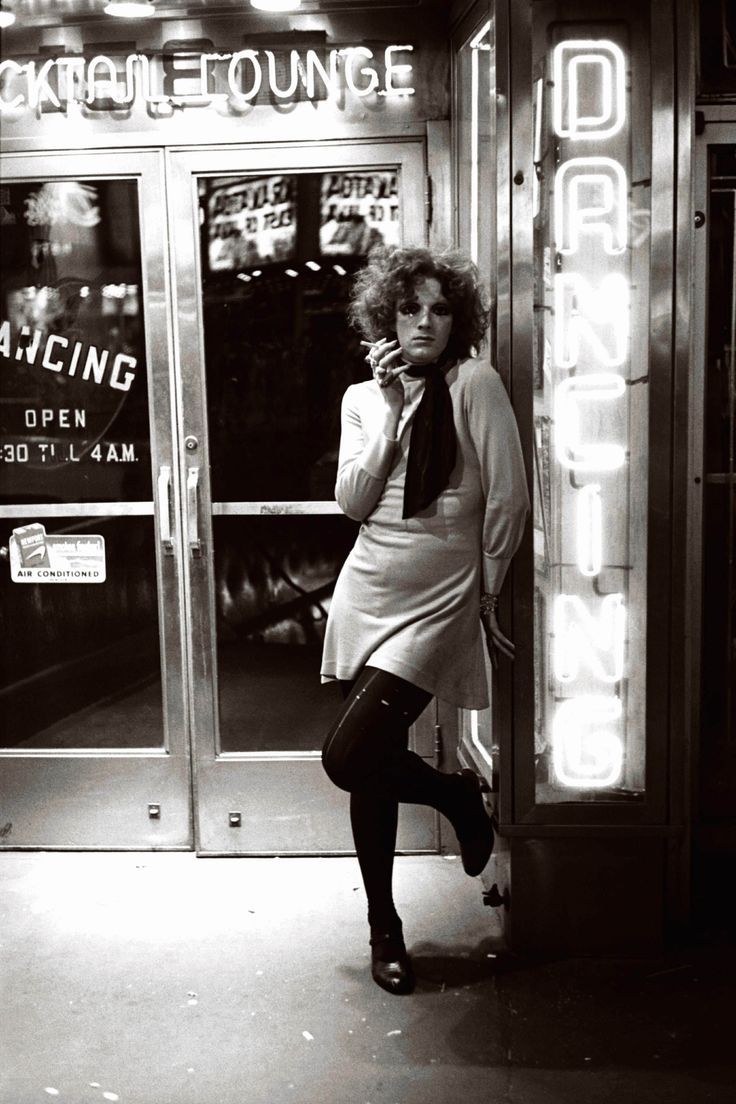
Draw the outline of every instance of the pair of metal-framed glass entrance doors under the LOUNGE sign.
M424 241L424 179L419 141L4 160L3 846L351 849L319 762L346 294Z

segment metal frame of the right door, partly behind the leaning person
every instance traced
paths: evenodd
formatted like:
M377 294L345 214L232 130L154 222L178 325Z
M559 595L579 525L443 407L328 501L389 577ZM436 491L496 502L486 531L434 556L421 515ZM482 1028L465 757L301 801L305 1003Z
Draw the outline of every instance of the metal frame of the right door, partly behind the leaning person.
M233 831L239 827L231 814L254 807L257 792L278 794L279 802L290 804L290 817L299 816L311 822L337 802L344 803L324 776L318 752L230 752L217 753L218 720L216 704L216 626L214 572L212 556L212 517L237 513L273 512L284 506L284 512L333 514L339 512L333 501L285 503L218 503L212 502L210 458L207 447L204 326L201 297L199 243L198 178L239 174L264 176L274 172L307 173L330 170L371 170L398 167L402 194L409 199L402 204L403 241L424 244L427 236L425 219L425 141L409 138L397 141L354 140L334 142L269 142L220 148L172 147L167 150L169 179L169 225L171 229L171 272L174 358L181 394L188 396L186 408L179 403L179 439L196 439L194 450L181 448L179 486L185 534L185 608L190 641L189 687L192 724L193 788L195 849L199 854L274 854L274 853L345 853L352 845L331 848L314 847L300 840L290 846L274 842L266 817L250 816L255 838ZM193 469L199 469L196 476ZM196 482L195 482L196 480ZM199 554L196 542L203 550ZM192 548L194 545L194 548ZM286 764L295 769L294 786L287 794L284 785ZM248 769L246 769L246 767ZM298 784L297 784L298 783ZM273 807L273 805L271 805ZM345 819L345 829L346 817ZM297 829L295 829L296 831ZM285 828L288 831L288 828ZM436 834L436 829L435 829ZM399 848L414 850L410 842ZM426 849L426 848L419 848Z

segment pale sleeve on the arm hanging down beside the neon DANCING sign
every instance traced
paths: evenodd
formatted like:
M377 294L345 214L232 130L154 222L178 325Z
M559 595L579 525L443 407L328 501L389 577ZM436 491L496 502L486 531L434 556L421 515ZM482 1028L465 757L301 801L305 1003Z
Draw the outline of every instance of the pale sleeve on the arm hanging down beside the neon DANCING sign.
M468 429L480 463L486 500L483 590L498 594L529 517L519 429L498 372L479 362L467 395Z

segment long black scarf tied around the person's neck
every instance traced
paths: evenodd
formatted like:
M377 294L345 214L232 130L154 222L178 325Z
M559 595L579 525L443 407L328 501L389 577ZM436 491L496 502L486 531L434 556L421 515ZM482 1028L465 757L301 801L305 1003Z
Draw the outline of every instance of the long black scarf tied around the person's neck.
M414 414L406 460L403 518L426 510L450 481L457 458L452 400L445 380L448 362L413 367L408 375L424 376L424 394Z

